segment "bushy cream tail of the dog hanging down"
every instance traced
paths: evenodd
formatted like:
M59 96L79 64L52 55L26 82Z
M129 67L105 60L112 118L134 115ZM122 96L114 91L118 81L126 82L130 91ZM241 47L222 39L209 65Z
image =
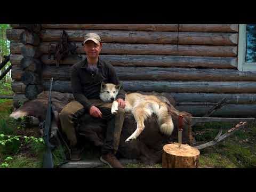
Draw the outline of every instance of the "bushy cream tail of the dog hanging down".
M161 103L159 105L159 110L157 111L156 115L160 131L170 136L172 134L174 125L165 103Z

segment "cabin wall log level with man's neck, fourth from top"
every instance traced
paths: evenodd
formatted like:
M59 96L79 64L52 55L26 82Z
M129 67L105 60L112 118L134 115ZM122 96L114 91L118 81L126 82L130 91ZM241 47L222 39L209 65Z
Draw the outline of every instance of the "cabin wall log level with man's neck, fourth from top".
M82 55L83 58L86 55ZM100 55L100 57L113 66L137 66L137 67L203 67L203 68L235 68L236 58L225 57L197 57L177 55ZM20 65L22 55L11 54L12 65ZM61 65L74 65L80 61L78 57L70 57L61 60ZM56 60L48 59L44 54L41 61L46 65L55 65Z

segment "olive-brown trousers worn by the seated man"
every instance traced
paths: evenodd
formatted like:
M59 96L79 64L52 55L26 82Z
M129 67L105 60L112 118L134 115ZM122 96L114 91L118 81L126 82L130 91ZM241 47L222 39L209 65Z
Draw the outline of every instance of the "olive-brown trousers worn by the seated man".
M125 111L118 107L116 115L111 114L112 103L104 103L100 100L90 100L92 104L98 107L102 113L102 118L92 117L85 113L84 107L77 101L71 101L60 112L60 123L62 131L67 135L70 146L77 145L77 122L83 116L86 119L86 126L95 122L106 123L106 138L101 150L102 154L116 153L119 145L121 131L123 128ZM85 127L83 127L85 128Z

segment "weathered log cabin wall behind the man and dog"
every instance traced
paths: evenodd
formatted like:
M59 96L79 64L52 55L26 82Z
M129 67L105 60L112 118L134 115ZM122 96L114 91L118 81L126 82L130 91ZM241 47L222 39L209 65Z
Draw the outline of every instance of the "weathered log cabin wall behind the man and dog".
M20 34L24 29L11 25L7 38L11 41L12 89L15 101L26 101L21 82L22 47ZM209 106L182 105L194 116L202 116L227 97L228 105L216 111L217 117L249 117L256 113L256 73L237 70L238 24L43 24L41 61L43 87L71 92L69 69L78 61L69 57L56 68L55 60L48 59L49 43L59 41L65 29L77 52L82 49L83 35L98 33L103 40L101 57L117 71L126 91L156 91L171 94L177 102L210 102Z

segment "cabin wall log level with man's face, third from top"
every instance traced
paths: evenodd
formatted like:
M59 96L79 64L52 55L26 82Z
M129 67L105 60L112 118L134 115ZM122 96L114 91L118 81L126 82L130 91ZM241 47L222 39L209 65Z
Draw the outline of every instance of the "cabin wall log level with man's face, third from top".
M39 51L48 53L49 43L41 43ZM77 53L84 54L81 43ZM12 54L20 54L22 43L11 42L10 51ZM105 43L101 54L151 54L151 55L187 55L187 56L213 56L213 57L236 57L236 46L207 46L207 45L165 45L165 44L121 44Z

